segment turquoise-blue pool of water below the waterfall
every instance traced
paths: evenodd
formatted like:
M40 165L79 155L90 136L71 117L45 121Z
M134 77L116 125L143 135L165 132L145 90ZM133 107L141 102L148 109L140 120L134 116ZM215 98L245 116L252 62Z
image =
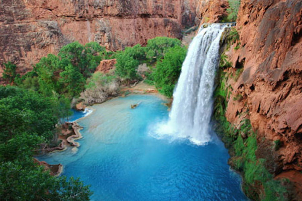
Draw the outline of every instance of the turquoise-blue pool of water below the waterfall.
M168 119L162 103L157 96L130 95L94 105L79 121L79 149L38 159L62 163L63 175L91 184L92 200L246 200L219 140L196 146L151 137L150 130Z

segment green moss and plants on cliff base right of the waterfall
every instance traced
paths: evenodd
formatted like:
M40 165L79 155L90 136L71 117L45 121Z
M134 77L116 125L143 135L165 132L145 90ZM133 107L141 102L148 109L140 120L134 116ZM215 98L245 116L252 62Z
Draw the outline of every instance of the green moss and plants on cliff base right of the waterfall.
M232 79L226 69L230 68L227 57L222 54L220 68L217 72L217 86L214 91L214 126L217 134L230 150L230 165L243 176L243 191L254 200L285 200L287 190L281 181L274 180L273 175L265 168L265 160L256 157L258 148L256 132L252 130L248 119L249 109L242 115L239 127L234 127L225 117L232 87L227 86L227 80ZM236 72L235 72L236 74ZM233 79L236 79L236 77ZM237 97L237 96L235 96ZM238 99L237 101L242 101Z

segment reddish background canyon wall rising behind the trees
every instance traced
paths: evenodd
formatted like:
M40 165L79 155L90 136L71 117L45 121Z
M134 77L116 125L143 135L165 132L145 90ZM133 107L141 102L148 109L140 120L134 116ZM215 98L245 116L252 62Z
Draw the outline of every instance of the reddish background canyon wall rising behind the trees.
M2 0L0 64L3 68L3 62L11 61L24 74L41 57L56 54L73 41L96 41L117 50L144 45L156 36L180 39L183 28L199 24L199 4L198 0Z

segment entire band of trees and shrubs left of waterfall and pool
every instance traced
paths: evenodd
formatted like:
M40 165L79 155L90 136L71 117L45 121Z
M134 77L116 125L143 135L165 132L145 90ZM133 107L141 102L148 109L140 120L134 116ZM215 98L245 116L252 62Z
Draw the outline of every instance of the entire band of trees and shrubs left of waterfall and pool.
M160 93L172 96L186 48L178 39L158 37L146 47L136 45L107 52L96 42L73 42L49 54L24 76L5 64L7 83L0 86L0 197L2 200L88 200L92 192L79 179L52 177L34 163L41 145L57 145L56 124L70 115L73 98L88 104L119 93L120 83L147 77ZM116 69L94 73L102 59L116 58ZM143 65L140 65L143 64ZM139 68L140 65L140 68ZM93 74L94 73L94 74Z

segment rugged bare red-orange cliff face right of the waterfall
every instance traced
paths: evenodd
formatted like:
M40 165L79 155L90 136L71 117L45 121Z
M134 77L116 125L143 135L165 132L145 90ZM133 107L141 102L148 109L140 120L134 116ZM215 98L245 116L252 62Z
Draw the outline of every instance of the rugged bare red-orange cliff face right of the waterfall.
M238 125L249 109L257 131L256 155L267 159L268 170L302 170L302 2L242 0L236 29L241 45L227 52L233 68L243 73L230 83L233 93L227 120ZM243 99L233 98L241 94ZM272 149L275 140L281 147Z

